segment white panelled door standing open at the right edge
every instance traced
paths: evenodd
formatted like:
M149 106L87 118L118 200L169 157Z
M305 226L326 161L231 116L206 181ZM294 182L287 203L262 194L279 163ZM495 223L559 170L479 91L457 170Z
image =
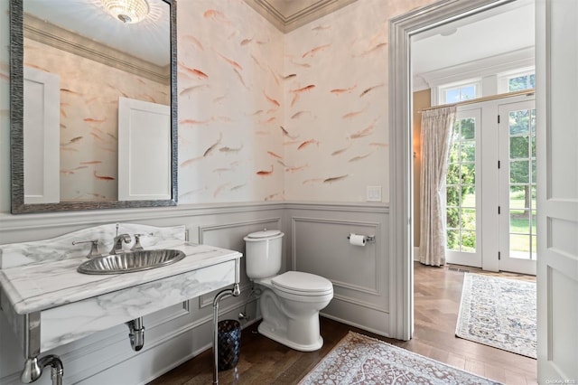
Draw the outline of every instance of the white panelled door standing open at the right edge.
M578 1L536 0L538 382L578 382Z

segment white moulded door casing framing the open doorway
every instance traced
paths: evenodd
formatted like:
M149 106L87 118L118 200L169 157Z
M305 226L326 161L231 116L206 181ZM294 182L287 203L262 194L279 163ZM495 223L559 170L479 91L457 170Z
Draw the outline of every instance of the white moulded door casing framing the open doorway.
M411 37L472 14L495 10L512 0L441 1L390 20L389 106L390 239L389 330L409 340L414 332L413 151L411 127ZM531 21L529 21L531 23Z

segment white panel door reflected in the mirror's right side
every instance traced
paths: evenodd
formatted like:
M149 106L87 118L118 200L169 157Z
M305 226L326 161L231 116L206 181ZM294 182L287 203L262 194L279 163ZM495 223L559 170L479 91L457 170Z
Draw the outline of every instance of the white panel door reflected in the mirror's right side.
M118 200L172 198L171 108L118 99Z

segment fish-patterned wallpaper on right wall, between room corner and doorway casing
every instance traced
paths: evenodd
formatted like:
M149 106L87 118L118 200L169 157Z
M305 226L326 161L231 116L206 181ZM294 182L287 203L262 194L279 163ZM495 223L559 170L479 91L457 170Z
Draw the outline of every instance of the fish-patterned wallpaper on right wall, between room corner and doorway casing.
M285 36L287 196L387 202L387 2L348 5Z

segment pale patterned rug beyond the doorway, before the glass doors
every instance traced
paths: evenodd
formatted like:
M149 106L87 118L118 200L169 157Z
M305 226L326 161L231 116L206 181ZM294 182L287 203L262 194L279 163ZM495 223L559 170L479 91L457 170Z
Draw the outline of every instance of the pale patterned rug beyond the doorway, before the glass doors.
M536 358L536 283L465 274L455 335Z

